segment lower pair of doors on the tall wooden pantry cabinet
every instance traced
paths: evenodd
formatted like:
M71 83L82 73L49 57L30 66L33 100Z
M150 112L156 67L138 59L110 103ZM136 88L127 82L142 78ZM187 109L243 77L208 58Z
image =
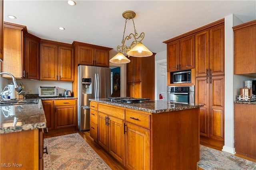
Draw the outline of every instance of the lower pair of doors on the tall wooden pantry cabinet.
M224 141L224 76L196 78L195 103L200 107L200 135Z

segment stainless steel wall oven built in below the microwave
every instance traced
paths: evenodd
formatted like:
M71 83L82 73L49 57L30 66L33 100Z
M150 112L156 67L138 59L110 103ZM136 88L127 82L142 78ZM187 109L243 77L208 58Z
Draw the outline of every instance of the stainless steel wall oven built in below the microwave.
M167 86L167 102L194 105L194 86Z

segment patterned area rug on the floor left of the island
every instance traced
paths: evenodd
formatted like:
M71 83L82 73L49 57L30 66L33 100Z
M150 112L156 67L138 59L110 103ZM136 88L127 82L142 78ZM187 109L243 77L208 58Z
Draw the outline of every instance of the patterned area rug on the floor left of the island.
M111 170L79 133L44 139L44 170Z

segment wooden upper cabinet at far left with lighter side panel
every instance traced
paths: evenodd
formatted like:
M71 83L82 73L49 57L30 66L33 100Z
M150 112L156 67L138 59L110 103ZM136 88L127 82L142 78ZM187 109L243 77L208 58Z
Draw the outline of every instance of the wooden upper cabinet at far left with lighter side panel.
M26 31L26 26L4 22L4 61L2 72L16 78L39 79L40 38Z

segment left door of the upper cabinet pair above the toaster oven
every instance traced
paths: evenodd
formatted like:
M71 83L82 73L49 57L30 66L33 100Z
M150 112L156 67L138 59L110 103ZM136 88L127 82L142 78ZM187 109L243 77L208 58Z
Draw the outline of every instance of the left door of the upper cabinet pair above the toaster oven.
M40 80L58 80L58 48L56 45L40 45Z

